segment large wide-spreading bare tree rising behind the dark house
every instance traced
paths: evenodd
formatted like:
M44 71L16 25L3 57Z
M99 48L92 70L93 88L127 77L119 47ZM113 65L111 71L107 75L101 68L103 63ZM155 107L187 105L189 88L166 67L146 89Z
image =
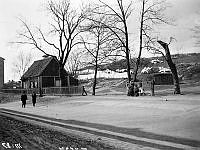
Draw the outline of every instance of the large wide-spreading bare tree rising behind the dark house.
M64 66L70 52L80 42L78 36L82 32L81 24L86 15L84 9L78 11L71 7L69 0L49 1L47 10L52 18L51 30L45 34L41 28L32 29L24 20L21 22L24 32L19 33L20 41L15 43L29 44L47 56L56 57L60 65L60 77L64 79ZM47 48L48 46L48 48ZM54 50L51 53L49 50Z

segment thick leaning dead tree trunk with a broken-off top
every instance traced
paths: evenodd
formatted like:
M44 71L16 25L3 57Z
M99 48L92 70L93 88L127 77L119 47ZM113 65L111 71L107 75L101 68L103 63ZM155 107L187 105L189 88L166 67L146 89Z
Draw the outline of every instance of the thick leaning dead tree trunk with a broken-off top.
M165 50L165 59L171 69L172 72L172 76L174 79L174 94L181 94L181 90L180 90L180 85L179 85L179 78L178 78L178 73L177 73L177 69L176 69L176 65L173 63L172 58L171 58L171 54L169 51L169 47L168 44L163 42L163 41L158 41L158 43L164 48Z

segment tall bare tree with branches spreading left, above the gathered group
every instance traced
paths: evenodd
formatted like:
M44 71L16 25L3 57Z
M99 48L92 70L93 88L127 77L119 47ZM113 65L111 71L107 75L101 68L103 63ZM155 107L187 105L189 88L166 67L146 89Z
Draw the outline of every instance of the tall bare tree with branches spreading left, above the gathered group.
M93 13L96 14L103 14L110 18L106 23L101 22L99 20L96 20L96 22L101 23L104 28L109 29L114 35L115 39L118 40L118 43L116 48L120 49L121 52L125 54L126 62L127 62L127 76L128 81L131 81L131 73L130 73L130 48L129 48L129 33L128 33L128 25L127 20L132 12L131 5L132 2L130 2L127 6L123 3L122 0L116 0L116 5L113 7L106 2L103 2L101 0L100 4L101 6L97 7L97 10L99 8L103 8L101 12L96 11L96 9L93 10ZM94 20L95 21L95 20ZM122 55L120 55L122 56Z

